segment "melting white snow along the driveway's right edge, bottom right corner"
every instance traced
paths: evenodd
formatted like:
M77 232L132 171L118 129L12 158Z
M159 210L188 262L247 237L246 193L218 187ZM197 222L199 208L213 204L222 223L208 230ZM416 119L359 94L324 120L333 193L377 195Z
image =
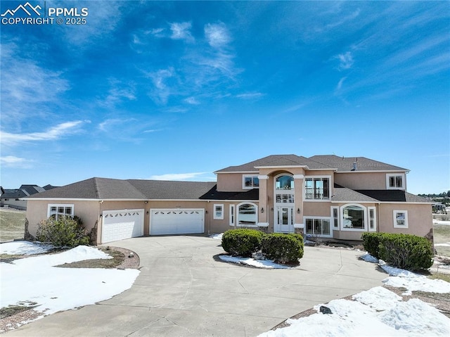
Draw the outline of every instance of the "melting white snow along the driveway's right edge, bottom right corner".
M446 281L390 267L368 253L361 256L379 263L390 277L383 280L389 286L411 291L450 293ZM435 307L417 298L404 302L401 297L381 286L362 291L352 300L332 300L326 307L333 314L317 314L300 319L288 319L289 326L267 331L259 337L322 337L322 336L450 336L450 319Z

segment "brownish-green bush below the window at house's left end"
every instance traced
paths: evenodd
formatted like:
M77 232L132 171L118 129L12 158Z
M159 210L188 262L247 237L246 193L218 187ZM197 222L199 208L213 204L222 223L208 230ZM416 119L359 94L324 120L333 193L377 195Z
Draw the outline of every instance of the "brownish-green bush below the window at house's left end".
M36 239L56 247L89 245L89 235L79 217L49 217L39 222Z

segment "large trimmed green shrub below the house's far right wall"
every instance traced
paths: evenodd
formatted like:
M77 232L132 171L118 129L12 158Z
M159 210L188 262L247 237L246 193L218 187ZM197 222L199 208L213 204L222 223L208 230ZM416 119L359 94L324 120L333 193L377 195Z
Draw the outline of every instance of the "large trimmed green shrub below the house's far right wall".
M406 270L428 269L433 264L431 242L410 234L383 234L380 259L388 265Z

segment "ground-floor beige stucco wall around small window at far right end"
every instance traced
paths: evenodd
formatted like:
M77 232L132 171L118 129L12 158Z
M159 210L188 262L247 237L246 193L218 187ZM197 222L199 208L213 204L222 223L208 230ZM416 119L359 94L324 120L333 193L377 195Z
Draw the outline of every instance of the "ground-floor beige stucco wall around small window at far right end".
M408 211L408 228L394 228L394 210ZM381 204L378 209L378 231L390 233L427 235L432 230L432 209L430 204Z

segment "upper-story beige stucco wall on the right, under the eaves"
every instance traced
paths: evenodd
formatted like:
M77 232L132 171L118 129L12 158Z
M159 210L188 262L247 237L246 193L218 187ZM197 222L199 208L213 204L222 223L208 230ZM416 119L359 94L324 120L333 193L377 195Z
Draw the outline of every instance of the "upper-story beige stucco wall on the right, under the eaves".
M404 172L390 172L390 174L391 173L404 174ZM356 171L336 173L335 183L347 187L348 189L386 189L386 172L373 173Z

